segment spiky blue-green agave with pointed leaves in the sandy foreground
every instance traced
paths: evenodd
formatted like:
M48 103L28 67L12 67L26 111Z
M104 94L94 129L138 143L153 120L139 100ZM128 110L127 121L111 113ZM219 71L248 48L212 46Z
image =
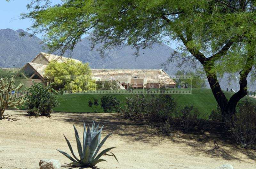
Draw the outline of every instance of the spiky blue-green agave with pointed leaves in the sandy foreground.
M103 151L101 151L99 154L99 150L102 147L102 145L105 143L105 141L107 140L107 138L113 133L109 133L101 142L100 142L100 136L101 136L101 131L103 129L104 126L102 126L99 130L99 125L100 123L95 127L95 122L92 122L92 128L90 129L90 125L88 124L87 130L85 128L85 123L84 123L84 136L83 136L83 148L82 148L82 144L80 142L80 138L78 135L78 132L76 130L76 127L74 126L74 130L75 130L75 137L76 137L76 145L77 145L77 150L78 150L78 154L80 159L78 159L74 152L73 149L67 139L67 137L64 135L67 143L68 143L68 147L71 151L71 154L73 155L72 158L68 153L63 152L58 150L60 153L62 153L64 156L66 156L67 158L69 158L71 161L73 161L72 163L70 163L70 165L72 166L76 166L76 167L93 167L95 166L97 163L101 162L101 161L106 161L104 159L100 159L101 156L103 155L109 155L106 154L107 152L109 152L111 149L115 148L115 147L110 147L107 148ZM116 158L116 156L112 153L109 152L113 156ZM98 155L97 155L98 154ZM96 156L97 155L97 156ZM118 162L117 158L116 161Z

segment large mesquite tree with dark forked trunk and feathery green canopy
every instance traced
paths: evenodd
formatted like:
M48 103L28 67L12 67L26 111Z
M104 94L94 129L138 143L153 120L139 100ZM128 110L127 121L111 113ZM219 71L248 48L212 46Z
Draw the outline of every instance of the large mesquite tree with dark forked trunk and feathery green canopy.
M255 71L254 0L32 0L27 7L22 18L34 21L31 29L44 33L51 52L71 53L86 33L93 35L92 47L104 42L102 55L124 43L139 51L159 41L180 42L183 58L202 65L222 117L235 113L247 94L246 78ZM229 100L217 72L240 74L240 90Z

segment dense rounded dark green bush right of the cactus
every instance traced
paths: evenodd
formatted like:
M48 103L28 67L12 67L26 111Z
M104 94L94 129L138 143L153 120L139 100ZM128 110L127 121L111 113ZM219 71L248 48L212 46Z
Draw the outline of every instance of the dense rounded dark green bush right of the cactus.
M51 86L34 83L27 91L24 106L28 109L29 115L36 115L35 112L39 112L41 116L50 116L53 108L59 104L58 92Z

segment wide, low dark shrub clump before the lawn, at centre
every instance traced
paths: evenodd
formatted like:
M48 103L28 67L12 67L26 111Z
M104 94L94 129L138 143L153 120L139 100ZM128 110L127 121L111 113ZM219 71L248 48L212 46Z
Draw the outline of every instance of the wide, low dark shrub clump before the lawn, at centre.
M151 122L168 120L176 109L176 102L171 95L134 95L126 98L122 115Z

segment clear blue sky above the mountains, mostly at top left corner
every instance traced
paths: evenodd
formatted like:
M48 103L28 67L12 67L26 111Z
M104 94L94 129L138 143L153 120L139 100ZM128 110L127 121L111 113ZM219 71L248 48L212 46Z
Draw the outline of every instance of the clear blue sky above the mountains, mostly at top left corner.
M5 0L0 0L0 29L10 28L13 30L23 29L27 31L27 28L32 25L32 21L29 19L21 20L20 14L26 13L27 7L26 5L31 0L11 0L10 2L6 2ZM52 0L52 4L60 3L60 0ZM31 31L27 31L31 33ZM38 38L41 38L41 34L36 35ZM86 35L84 35L85 37ZM172 48L176 48L175 42L171 44L167 44Z

